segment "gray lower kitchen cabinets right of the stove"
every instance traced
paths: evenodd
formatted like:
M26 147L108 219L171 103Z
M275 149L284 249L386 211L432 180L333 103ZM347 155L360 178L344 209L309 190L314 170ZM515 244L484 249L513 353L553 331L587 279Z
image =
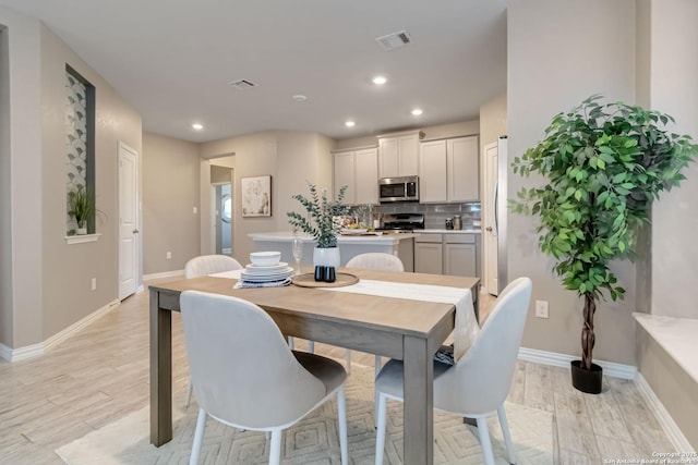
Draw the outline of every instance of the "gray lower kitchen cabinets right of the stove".
M478 234L421 234L414 238L414 271L479 278L479 242Z

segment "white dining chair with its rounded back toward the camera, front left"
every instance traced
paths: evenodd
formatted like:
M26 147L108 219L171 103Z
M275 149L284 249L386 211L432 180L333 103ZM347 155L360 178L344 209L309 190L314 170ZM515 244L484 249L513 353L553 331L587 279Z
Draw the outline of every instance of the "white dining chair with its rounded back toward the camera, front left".
M278 464L284 430L337 395L341 464L348 463L345 381L335 360L289 348L266 311L241 298L182 292L182 323L198 419L190 464L201 454L206 418L272 433Z

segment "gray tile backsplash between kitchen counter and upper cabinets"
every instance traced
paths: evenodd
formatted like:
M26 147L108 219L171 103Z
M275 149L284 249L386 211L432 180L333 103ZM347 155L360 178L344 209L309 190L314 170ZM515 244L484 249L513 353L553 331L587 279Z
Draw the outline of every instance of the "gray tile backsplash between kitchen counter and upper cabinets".
M373 207L374 213L422 213L424 215L424 228L444 229L446 219L454 215L460 215L462 229L472 229L473 221L480 221L480 203L466 204L388 204ZM476 225L476 228L479 228Z

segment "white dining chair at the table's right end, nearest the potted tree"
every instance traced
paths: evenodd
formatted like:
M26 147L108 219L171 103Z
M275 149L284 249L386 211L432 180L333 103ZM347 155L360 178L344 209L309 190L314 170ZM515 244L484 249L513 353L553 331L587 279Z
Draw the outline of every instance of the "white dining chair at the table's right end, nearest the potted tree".
M468 352L454 366L434 363L434 408L476 419L486 465L494 465L486 420L494 412L500 418L509 463L516 463L504 401L512 384L530 298L531 280L514 280L497 297ZM389 360L375 380L378 392L376 465L383 464L387 400L402 401L402 363Z

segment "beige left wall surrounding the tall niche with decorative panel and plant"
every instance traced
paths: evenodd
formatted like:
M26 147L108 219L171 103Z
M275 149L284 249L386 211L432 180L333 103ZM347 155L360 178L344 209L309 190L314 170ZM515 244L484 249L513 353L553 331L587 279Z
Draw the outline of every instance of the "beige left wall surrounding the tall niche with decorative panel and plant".
M65 63L96 89L95 180L98 242L68 245L65 235ZM41 27L41 204L44 339L118 298L119 155L142 152L141 115L47 27ZM58 279L60 277L60 279ZM92 278L97 289L91 291Z

